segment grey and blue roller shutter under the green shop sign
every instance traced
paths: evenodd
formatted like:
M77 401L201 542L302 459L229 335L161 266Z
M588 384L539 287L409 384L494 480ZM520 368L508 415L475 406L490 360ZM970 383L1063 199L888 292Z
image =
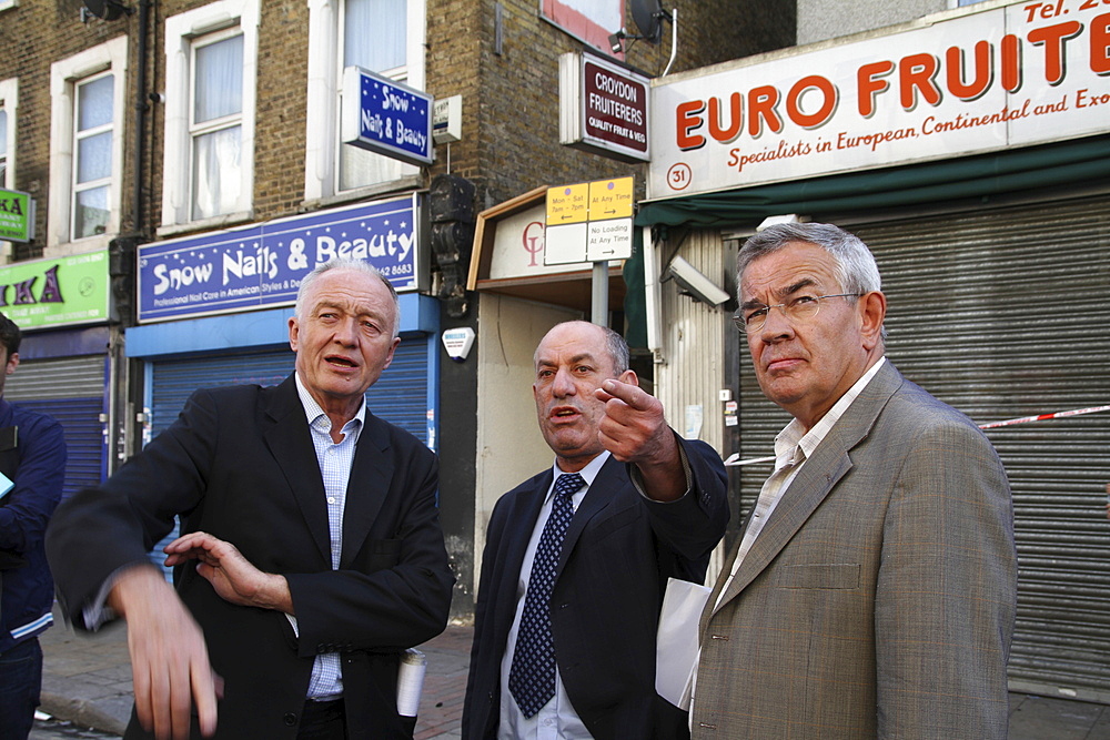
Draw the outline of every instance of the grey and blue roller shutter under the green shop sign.
M65 434L62 496L100 484L104 475L103 355L27 361L4 384L3 396L54 417Z

